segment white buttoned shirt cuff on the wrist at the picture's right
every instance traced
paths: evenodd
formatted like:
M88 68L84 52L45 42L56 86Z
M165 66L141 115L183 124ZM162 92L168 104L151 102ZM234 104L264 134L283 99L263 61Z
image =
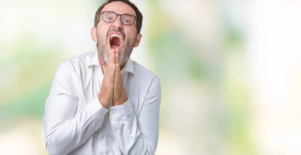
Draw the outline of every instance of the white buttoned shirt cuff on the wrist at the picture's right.
M127 99L125 103L121 105L109 106L109 110L110 110L110 118L112 119L126 117L134 111L129 99Z

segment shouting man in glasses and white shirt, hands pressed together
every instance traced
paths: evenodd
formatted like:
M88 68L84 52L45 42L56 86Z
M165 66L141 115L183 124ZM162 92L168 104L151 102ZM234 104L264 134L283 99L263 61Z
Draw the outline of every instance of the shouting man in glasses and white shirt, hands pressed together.
M128 0L108 0L95 14L97 52L60 63L45 105L49 154L155 154L161 87L129 56L142 14Z

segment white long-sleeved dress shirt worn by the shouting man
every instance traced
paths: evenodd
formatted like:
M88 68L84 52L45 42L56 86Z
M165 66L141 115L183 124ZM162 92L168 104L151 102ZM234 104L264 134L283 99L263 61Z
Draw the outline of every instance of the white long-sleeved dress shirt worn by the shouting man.
M128 100L103 107L103 73L97 52L60 63L46 100L49 154L155 154L161 86L157 76L130 58L121 70Z

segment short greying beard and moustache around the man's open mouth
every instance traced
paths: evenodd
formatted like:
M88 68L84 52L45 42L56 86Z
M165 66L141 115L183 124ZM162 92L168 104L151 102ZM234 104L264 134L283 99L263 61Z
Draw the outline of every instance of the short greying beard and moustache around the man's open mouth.
M121 48L119 48L118 50L118 54L119 54L119 64L120 66L123 66L126 61L128 60L132 50L133 50L133 47L134 47L134 43L135 43L135 40L137 38L137 36L135 35L133 39L127 39L125 38L125 34L124 32L122 32L120 29L111 29L107 32L107 35L106 37L101 37L97 32L96 32L96 36L97 36L97 48L98 48L98 54L99 54L99 57L100 59L105 63L107 64L107 61L108 61L108 48L107 48L107 44L110 43L108 42L108 38L109 38L109 33L111 31L116 31L116 32L120 32L122 35L123 35L123 43L122 43L122 46Z

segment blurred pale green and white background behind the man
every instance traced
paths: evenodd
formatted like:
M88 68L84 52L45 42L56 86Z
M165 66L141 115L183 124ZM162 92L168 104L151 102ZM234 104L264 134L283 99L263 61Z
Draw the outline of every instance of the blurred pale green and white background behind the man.
M157 154L301 154L300 1L131 0L161 80ZM47 154L58 64L95 52L104 0L0 0L0 154Z

